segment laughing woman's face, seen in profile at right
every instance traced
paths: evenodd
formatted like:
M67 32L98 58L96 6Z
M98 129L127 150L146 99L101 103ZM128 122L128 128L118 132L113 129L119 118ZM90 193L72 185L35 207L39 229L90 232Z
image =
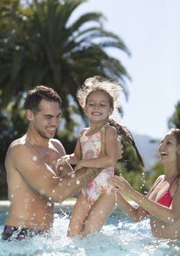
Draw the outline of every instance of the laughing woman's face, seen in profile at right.
M160 162L163 165L176 165L176 151L177 143L175 136L172 132L168 132L161 140L161 144L159 145Z

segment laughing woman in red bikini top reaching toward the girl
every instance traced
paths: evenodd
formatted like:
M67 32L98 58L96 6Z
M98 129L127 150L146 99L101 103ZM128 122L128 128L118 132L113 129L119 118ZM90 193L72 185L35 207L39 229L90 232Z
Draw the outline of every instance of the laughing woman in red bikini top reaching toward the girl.
M154 236L166 239L180 238L180 130L171 129L159 146L160 162L165 166L164 175L159 176L145 197L134 190L120 176L111 176L116 187L118 206L135 222L150 215L150 227ZM131 198L139 207L125 201L121 194Z

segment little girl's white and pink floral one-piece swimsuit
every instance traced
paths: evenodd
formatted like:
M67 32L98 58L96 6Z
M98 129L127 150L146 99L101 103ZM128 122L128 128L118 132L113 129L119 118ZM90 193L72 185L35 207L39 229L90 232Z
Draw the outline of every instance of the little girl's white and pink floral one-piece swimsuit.
M91 136L86 136L87 130L80 138L82 158L98 158L101 155L101 131L98 131ZM114 174L113 166L103 169L94 180L83 188L82 192L90 204L94 204L94 201L104 190L111 190L109 177L112 174Z

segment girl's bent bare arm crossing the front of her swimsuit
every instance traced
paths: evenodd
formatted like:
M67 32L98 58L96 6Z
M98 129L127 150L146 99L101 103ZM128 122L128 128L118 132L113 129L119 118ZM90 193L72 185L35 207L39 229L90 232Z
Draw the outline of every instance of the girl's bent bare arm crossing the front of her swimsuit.
M93 159L81 160L75 167L75 170L82 167L88 168L106 168L114 166L118 160L118 136L115 127L108 126L105 136L106 155Z

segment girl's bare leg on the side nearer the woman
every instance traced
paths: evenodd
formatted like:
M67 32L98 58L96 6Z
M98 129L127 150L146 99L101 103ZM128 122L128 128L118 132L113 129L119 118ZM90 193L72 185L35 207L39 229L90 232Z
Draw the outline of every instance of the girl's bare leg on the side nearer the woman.
M115 206L115 191L104 191L94 202L93 207L86 219L86 225L83 229L83 236L94 232L100 231L108 216L111 214Z

